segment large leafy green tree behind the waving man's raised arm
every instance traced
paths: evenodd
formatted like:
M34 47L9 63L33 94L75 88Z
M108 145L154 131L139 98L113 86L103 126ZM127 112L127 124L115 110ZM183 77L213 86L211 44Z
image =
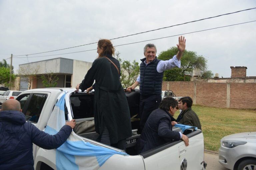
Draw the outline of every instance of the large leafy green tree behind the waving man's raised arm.
M158 59L169 60L178 52L177 47L171 47L160 52ZM164 81L190 81L193 69L200 69L200 77L211 78L213 73L207 70L207 59L202 55L197 55L195 51L185 50L181 58L181 68L173 68L164 72Z

